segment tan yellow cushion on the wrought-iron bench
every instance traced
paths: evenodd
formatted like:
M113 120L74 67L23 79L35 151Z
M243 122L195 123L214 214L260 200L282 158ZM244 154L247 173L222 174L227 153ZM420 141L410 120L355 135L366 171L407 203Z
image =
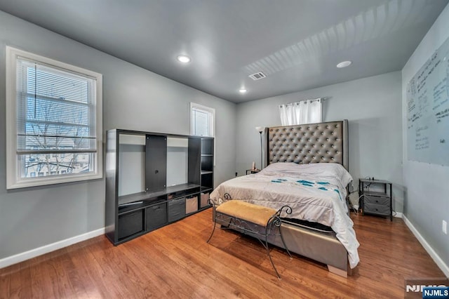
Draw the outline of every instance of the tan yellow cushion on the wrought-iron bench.
M257 206L256 204L237 199L220 204L220 206L217 206L216 211L263 227L267 225L269 218L276 213L274 208Z

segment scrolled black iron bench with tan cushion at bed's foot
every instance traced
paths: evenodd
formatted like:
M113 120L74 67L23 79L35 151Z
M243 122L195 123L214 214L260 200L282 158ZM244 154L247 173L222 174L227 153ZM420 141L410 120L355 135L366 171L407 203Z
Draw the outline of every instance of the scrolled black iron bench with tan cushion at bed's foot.
M281 236L283 247L286 249L290 258L292 258L292 256L290 255L290 251L288 251L288 248L286 246L286 242L283 240L281 231L280 215L284 208L286 209L286 213L291 213L290 206L283 206L278 211L276 211L274 210L274 208L257 206L255 204L250 204L246 201L240 201L236 199L226 201L225 203L220 204L220 206L214 205L214 225L207 243L209 243L210 239L213 236L213 233L215 232L217 219L220 219L220 222L224 221L227 223L227 227L225 228L231 228L243 233L250 233L253 237L256 237L260 241L265 249L267 249L269 261L272 263L274 272L276 272L277 277L281 279L278 271L276 270L276 267L274 266L272 256L269 253L267 237L269 236L269 234L273 234L274 229L277 228ZM260 237L265 238L264 242L260 239Z

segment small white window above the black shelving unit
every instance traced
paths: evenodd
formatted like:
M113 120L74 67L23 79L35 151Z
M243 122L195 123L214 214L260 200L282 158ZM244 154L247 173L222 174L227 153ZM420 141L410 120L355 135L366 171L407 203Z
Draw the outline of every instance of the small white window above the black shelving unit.
M191 102L190 113L191 134L214 137L215 109Z

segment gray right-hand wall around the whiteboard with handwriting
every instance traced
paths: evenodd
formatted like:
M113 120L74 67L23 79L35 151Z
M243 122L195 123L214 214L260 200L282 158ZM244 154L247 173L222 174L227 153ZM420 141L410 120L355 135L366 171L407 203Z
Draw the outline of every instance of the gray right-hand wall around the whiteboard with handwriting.
M449 234L443 234L441 223L442 220L449 223L449 167L408 161L406 87L424 62L449 38L448 28L449 6L446 6L402 69L403 173L407 191L404 215L443 260L446 275L449 275Z

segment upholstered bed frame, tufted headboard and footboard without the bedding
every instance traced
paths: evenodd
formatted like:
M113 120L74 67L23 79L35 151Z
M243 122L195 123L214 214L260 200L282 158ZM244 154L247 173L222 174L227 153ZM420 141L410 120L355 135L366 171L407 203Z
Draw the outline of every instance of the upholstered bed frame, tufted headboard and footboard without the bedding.
M349 169L348 121L330 121L298 126L265 128L265 162L338 163ZM342 277L351 275L346 248L334 232L310 230L294 224L282 224L283 237L290 251L324 263ZM269 242L282 246L277 238Z

